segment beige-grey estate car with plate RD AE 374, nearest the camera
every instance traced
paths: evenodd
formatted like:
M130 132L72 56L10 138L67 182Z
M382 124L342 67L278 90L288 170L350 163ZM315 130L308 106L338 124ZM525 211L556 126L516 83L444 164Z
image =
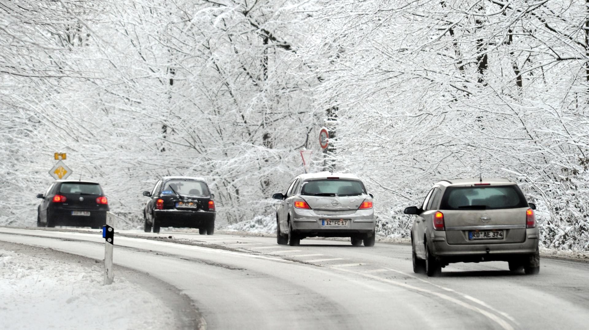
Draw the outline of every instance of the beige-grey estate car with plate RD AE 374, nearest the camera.
M536 206L508 179L436 183L411 228L413 271L434 276L451 262L507 261L510 271L538 274Z

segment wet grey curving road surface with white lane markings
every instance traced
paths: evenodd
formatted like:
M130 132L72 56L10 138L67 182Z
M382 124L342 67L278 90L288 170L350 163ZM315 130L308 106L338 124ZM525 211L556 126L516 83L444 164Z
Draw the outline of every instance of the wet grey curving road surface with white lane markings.
M102 259L99 231L0 228L0 240ZM413 274L411 246L181 232L118 231L115 264L150 273L195 302L207 329L586 329L589 264L542 259ZM116 269L115 269L116 276Z

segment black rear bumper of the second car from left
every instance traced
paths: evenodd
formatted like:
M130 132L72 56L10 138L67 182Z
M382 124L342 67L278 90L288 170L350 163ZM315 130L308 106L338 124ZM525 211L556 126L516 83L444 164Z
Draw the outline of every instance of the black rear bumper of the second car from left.
M216 212L154 210L154 224L160 227L201 228L215 221Z

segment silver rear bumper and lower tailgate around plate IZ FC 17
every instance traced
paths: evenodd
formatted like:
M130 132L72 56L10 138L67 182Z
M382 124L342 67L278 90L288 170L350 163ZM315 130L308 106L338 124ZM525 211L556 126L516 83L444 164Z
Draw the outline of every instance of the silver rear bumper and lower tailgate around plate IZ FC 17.
M347 227L322 226L322 219L348 219ZM376 220L373 209L358 210L353 214L323 215L314 210L296 210L292 218L294 232L306 237L350 237L374 232Z

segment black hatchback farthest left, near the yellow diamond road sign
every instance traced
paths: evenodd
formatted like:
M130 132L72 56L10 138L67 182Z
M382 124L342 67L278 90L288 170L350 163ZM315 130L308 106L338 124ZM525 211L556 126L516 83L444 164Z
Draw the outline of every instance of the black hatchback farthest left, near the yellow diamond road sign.
M108 199L100 184L90 181L57 180L49 186L37 209L37 226L100 228L105 224Z

